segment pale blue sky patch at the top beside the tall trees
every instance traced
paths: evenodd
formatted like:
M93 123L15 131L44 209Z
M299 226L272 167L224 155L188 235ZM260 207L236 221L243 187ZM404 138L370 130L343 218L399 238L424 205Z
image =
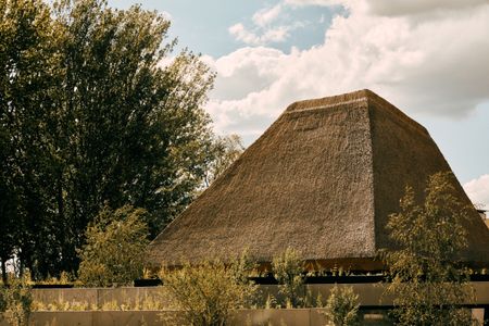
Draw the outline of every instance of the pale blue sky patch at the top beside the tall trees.
M243 46L242 41L231 36L228 30L230 26L240 22L252 25L252 17L258 11L272 8L279 1L112 0L109 3L122 9L140 3L145 9L168 13L172 21L171 36L178 38L178 48L188 47L195 52L218 58ZM304 26L296 28L285 41L271 45L284 52L290 52L291 47L308 49L319 45L325 28L336 13L346 14L346 11L340 5L286 10L279 17L283 23L288 23L293 16L294 21L304 22Z

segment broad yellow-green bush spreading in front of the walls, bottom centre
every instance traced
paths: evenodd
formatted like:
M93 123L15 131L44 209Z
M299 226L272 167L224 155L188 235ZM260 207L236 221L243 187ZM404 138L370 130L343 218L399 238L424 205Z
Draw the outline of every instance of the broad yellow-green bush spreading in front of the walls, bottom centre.
M231 310L249 308L254 300L256 286L243 277L247 271L238 271L246 265L186 263L179 269L162 269L160 278L189 325L227 325Z

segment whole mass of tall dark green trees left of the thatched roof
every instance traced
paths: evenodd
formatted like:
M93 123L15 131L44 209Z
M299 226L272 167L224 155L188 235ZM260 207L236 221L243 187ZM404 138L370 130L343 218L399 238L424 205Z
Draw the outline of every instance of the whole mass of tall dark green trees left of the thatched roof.
M147 210L154 237L193 199L213 74L190 51L168 59L168 28L138 5L0 0L2 267L15 254L34 277L76 271L105 203Z

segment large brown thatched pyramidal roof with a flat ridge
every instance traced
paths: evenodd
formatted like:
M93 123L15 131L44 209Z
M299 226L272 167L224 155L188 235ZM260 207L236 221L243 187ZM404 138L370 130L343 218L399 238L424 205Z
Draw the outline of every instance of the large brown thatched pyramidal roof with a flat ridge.
M369 90L292 103L149 247L148 262L260 262L288 247L309 261L377 269L385 225L406 185L451 171L427 130ZM460 200L471 204L456 185ZM489 230L474 210L465 259L487 264Z

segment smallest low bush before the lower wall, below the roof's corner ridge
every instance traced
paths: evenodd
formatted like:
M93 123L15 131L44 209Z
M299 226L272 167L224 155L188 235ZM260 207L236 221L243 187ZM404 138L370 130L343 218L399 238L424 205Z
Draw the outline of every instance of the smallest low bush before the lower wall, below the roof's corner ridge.
M334 326L360 325L359 319L359 294L353 292L352 287L335 287L326 302L325 315Z

